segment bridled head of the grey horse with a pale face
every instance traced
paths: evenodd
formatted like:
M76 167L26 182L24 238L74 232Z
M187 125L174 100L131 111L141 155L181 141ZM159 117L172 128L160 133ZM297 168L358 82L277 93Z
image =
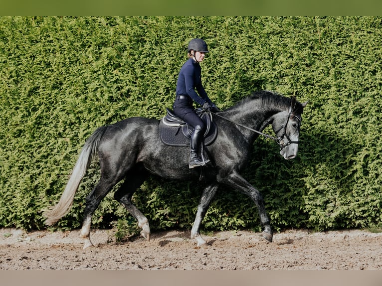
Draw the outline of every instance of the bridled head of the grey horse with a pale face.
M291 97L289 110L275 114L272 118L272 128L280 145L280 154L284 159L293 159L297 155L301 114L307 102L299 103L295 96Z

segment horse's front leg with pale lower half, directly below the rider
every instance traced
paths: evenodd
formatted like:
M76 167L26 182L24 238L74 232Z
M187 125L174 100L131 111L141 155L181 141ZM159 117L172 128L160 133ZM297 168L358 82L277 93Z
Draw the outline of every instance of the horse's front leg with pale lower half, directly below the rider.
M201 225L201 221L203 220L205 213L207 212L209 204L211 203L212 198L216 194L217 187L218 187L217 184L207 186L201 194L200 202L199 202L199 205L197 206L195 221L193 222L192 229L191 229L191 239L196 239L197 246L200 246L206 243L205 240L200 236L199 228Z

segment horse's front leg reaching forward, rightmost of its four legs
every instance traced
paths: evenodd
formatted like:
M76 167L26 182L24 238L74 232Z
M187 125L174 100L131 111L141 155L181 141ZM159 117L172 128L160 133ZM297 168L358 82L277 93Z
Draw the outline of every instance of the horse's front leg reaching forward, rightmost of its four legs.
M270 226L270 219L265 211L264 199L260 192L236 172L233 172L229 176L226 176L224 178L224 183L246 194L255 202L257 210L259 212L261 225L264 227L262 236L267 241L272 242L273 232Z

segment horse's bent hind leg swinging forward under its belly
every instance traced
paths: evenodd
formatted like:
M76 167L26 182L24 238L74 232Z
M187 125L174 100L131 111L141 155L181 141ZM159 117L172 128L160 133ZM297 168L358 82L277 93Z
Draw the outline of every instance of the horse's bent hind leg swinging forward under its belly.
M147 177L148 174L143 170L130 172L122 186L115 192L114 198L135 217L138 221L138 226L142 229L141 235L150 241L149 220L131 201L134 192L143 184Z

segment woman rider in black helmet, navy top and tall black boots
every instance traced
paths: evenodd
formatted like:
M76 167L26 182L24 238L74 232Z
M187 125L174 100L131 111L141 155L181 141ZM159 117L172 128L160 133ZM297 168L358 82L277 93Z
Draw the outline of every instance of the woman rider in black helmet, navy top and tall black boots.
M216 105L208 98L201 84L201 69L199 63L204 60L208 53L207 44L202 39L192 39L188 47L188 61L179 72L176 99L173 109L183 121L191 125L194 131L191 135L191 150L189 167L204 165L207 161L200 159L197 151L205 132L203 121L196 115L192 103L202 106L204 110L219 111ZM198 92L199 96L197 95Z

